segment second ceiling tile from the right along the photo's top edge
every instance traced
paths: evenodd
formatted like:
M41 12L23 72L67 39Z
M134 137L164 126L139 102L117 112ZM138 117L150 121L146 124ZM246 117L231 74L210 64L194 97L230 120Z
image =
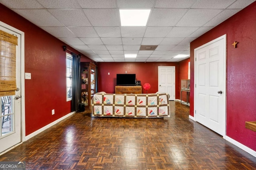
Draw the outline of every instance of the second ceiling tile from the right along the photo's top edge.
M236 0L199 0L191 8L225 9Z

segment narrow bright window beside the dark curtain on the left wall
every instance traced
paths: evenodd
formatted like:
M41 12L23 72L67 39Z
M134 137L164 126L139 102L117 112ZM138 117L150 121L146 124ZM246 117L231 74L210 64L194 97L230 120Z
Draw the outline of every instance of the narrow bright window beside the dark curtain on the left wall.
M72 100L72 55L66 53L66 93L67 101Z

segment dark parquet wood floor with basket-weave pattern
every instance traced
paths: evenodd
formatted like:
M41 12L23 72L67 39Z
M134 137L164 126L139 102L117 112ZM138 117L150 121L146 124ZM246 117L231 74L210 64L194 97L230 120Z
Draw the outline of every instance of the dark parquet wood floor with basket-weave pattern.
M75 113L2 154L26 169L256 170L256 158L188 118L170 102L170 118L106 118Z

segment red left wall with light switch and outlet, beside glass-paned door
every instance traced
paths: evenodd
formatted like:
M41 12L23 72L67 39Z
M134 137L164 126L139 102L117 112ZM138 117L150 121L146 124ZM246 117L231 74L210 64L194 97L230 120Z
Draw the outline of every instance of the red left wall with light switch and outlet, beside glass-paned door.
M2 4L0 16L2 22L25 33L25 72L31 73L31 80L25 80L25 123L29 135L71 112L71 102L66 102L66 52L62 49L66 44Z

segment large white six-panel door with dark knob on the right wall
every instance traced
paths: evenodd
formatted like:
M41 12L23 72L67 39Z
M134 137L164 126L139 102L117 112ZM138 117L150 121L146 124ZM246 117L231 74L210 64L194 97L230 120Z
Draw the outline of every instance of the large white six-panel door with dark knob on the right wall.
M195 119L226 132L226 35L195 49Z

